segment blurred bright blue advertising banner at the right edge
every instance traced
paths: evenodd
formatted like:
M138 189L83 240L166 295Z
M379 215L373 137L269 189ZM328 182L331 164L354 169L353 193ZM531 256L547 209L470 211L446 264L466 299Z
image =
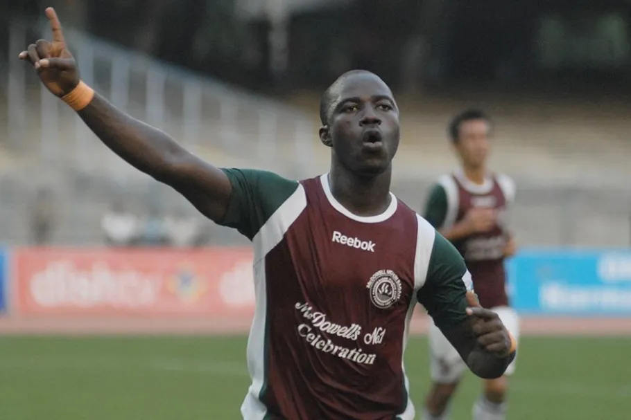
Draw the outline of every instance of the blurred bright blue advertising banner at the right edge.
M631 250L524 250L507 268L524 315L631 316Z

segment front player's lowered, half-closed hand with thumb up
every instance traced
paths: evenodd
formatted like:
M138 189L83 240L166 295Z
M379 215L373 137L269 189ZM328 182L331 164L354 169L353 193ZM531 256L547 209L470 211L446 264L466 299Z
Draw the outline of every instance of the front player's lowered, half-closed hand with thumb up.
M473 332L478 345L499 358L508 356L512 343L508 329L504 327L499 316L481 307L476 294L472 291L467 292L467 303L467 314L475 319Z

